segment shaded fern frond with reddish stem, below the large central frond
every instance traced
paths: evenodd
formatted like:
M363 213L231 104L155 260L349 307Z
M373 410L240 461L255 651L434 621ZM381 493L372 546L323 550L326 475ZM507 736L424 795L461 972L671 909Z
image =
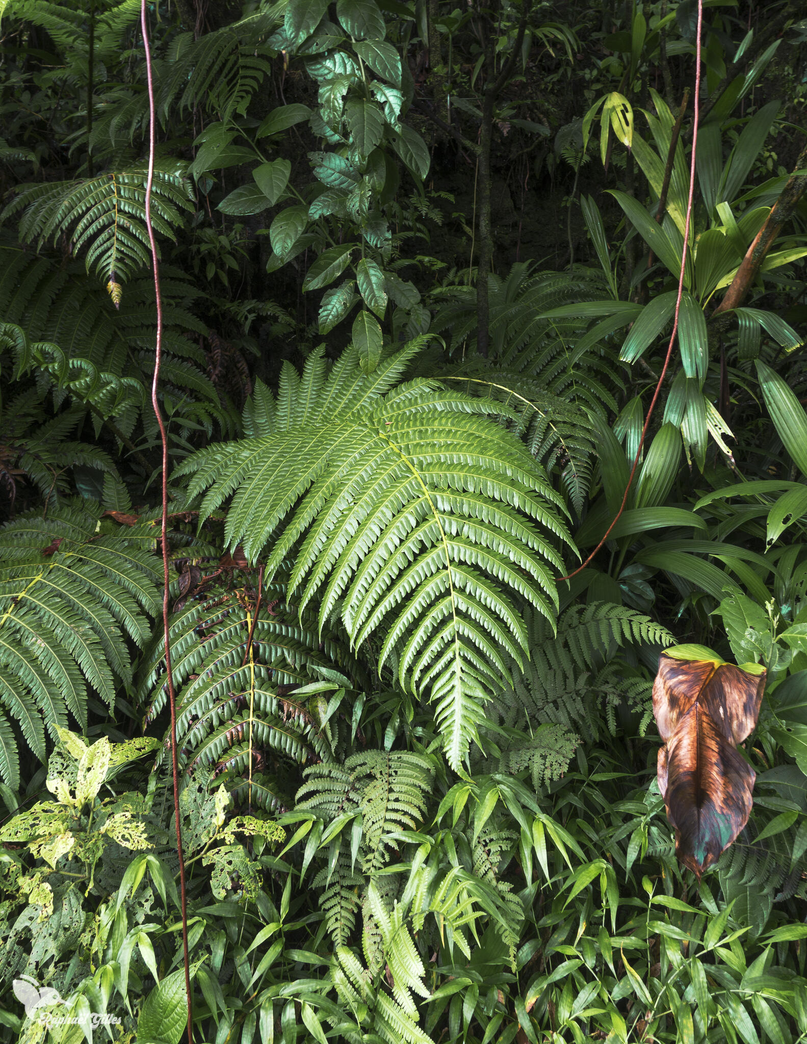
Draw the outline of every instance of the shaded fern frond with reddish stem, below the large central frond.
M180 763L188 775L199 764L211 769L244 804L288 807L290 769L331 759L347 739L342 718L327 716L329 695L367 680L347 640L321 636L313 613L298 616L289 608L283 584L264 586L254 622L255 583L257 574L239 573L227 589L206 588L171 619ZM164 667L162 634L155 635L140 681L146 723L166 705ZM158 761L167 756L166 736Z

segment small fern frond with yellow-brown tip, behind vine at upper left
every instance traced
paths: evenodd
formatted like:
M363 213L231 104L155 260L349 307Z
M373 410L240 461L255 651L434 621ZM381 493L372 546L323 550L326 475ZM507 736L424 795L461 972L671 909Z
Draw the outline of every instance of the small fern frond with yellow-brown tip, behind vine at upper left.
M87 252L87 270L108 284L113 300L117 287L139 268L150 266L145 224L145 170L113 170L74 182L47 182L18 187L0 220L20 214L22 242L41 248L70 236L74 256ZM182 211L193 209L190 184L180 174L156 170L151 192L151 223L159 235L174 238Z

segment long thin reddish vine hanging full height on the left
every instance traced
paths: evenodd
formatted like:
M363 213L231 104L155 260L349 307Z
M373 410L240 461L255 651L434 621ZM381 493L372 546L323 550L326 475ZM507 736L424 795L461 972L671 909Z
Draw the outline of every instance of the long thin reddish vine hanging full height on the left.
M188 958L188 900L185 886L185 856L182 849L182 823L180 820L180 768L176 756L176 691L171 672L171 646L168 632L168 600L170 578L168 566L168 434L160 411L157 389L160 381L160 363L163 355L163 298L160 291L160 265L157 256L157 241L151 226L151 186L155 180L155 134L157 126L157 105L155 104L155 81L151 70L151 50L148 46L148 23L146 0L140 4L140 27L143 32L143 50L146 56L146 82L148 86L148 176L146 179L146 230L151 248L151 266L155 274L155 301L157 304L157 351L155 355L155 376L151 381L151 407L160 426L163 444L161 544L163 549L163 642L165 645L165 673L168 682L168 703L171 708L171 770L173 775L173 815L176 825L176 854L180 857L180 897L182 902L182 945L185 958L185 993L188 1001L188 1044L193 1044L193 1007L191 1002L190 962Z

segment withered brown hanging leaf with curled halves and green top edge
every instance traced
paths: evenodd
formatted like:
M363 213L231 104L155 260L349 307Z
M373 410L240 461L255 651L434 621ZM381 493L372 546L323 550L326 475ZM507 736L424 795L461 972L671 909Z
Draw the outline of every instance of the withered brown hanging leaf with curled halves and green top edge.
M681 645L659 659L652 686L664 740L659 789L675 854L698 878L749 821L756 774L737 744L757 723L764 688L764 667L735 667L698 646Z

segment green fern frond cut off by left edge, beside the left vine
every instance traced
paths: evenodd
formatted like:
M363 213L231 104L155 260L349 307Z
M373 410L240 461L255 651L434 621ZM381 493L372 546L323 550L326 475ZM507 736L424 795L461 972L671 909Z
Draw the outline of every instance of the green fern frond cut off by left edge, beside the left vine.
M101 531L100 511L81 501L0 529L0 775L11 788L19 734L44 761L46 731L55 739L68 715L87 727L89 690L112 708L116 684L132 682L127 640L144 644L160 610L159 560L123 526Z

